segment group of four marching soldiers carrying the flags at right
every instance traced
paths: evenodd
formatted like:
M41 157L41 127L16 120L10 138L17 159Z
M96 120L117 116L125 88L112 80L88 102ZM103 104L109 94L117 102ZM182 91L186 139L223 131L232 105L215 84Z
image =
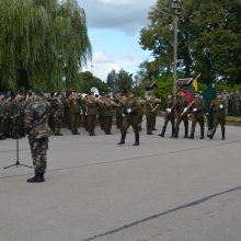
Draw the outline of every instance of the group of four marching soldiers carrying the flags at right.
M222 99L221 93L217 94L217 99L213 100L210 103L210 110L214 113L214 123L211 128L208 128L208 137L213 139L217 126L220 124L222 140L226 136L226 102ZM183 122L184 124L184 138L194 138L196 124L200 127L200 139L204 139L205 131L205 122L206 115L205 113L205 103L200 92L195 92L195 96L193 102L190 103L188 99L185 95L185 90L180 90L177 92L177 96L170 93L168 95L167 106L165 106L165 116L164 116L164 125L162 131L159 136L164 137L167 126L169 122L172 125L172 135L171 137L177 138L180 131L180 124ZM192 115L192 127L191 134L188 135L188 116Z

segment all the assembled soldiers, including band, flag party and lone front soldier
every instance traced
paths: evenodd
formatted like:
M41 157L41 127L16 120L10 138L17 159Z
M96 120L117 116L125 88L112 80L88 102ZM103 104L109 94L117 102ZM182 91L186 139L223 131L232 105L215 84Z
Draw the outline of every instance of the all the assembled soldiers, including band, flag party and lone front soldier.
M105 135L112 135L112 125L115 123L120 131L120 140L117 145L125 145L128 128L131 126L135 135L133 146L139 146L142 123L146 123L147 135L153 135L152 131L157 130L156 119L160 103L161 100L153 93L149 93L146 99L137 96L134 92L117 93L112 97L106 93L79 94L74 91L50 94L38 88L25 94L0 93L0 139L19 139L27 136L35 169L35 175L27 182L39 183L45 181L48 137L61 136L64 126L67 126L72 135L79 135L79 128L82 126L90 136L95 136L97 124ZM214 138L218 125L221 126L222 140L226 138L226 105L220 93L210 103L214 112L214 125L207 134L210 139ZM191 103L183 89L176 94L168 93L163 111L164 125L159 134L160 137L165 136L167 127L171 123L171 138L179 138L180 125L183 123L184 138L193 139L198 124L199 138L204 139L206 115L199 92L195 93Z

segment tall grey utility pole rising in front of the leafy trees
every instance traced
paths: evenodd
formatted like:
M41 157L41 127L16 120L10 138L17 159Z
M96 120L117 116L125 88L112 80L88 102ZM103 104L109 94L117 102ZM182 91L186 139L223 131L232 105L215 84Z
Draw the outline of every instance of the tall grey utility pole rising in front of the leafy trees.
M176 66L177 66L177 24L179 15L181 11L181 0L172 0L173 14L173 25L174 25L174 44L173 44L173 93L176 92Z

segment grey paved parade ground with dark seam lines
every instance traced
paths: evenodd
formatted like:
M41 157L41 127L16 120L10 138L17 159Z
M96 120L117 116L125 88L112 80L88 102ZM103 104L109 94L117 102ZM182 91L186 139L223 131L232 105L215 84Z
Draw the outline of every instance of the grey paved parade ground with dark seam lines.
M96 137L80 129L49 138L45 183L27 183L13 139L0 141L1 241L240 241L241 128L213 140L140 134L125 146L119 130ZM20 161L32 164L26 138Z

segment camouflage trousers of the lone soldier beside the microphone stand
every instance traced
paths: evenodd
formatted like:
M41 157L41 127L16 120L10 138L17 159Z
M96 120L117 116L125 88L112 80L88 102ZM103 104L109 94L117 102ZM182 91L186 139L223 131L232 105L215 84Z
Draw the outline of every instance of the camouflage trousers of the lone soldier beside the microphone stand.
M48 138L35 139L28 137L28 142L35 171L45 173L47 168Z

